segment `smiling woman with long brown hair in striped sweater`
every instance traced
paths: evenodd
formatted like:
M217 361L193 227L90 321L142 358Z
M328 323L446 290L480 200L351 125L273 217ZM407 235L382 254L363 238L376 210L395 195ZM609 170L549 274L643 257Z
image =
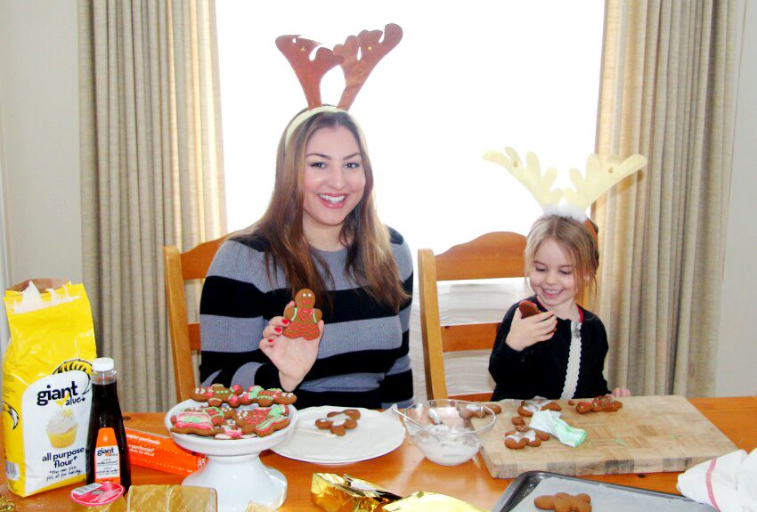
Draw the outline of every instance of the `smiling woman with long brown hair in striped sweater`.
M312 341L281 335L299 289L323 312ZM411 294L410 249L378 221L359 127L344 110L301 113L281 137L265 215L208 271L200 380L281 387L298 408L406 405Z

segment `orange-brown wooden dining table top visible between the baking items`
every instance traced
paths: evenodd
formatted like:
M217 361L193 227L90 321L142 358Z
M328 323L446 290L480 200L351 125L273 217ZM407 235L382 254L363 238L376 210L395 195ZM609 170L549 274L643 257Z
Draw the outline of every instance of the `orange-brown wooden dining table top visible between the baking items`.
M757 447L757 396L732 398L693 398L690 402L702 411L715 427L737 445L752 451ZM126 427L166 434L162 413L134 412L125 415ZM319 465L286 459L265 451L261 459L286 475L289 492L281 511L319 510L310 500L313 473L346 473L378 484L395 494L416 491L439 492L468 501L486 510L492 508L511 480L492 478L481 455L461 466L445 467L425 459L409 438L395 451L377 459L341 465ZM4 459L3 459L4 462ZM612 484L630 485L651 491L676 492L678 473L641 473L627 475L592 475L584 478ZM145 467L132 467L132 482L139 484L181 484L183 476ZM0 475L0 492L10 496L19 511L74 510L69 494L74 485L20 498L8 492L5 475Z

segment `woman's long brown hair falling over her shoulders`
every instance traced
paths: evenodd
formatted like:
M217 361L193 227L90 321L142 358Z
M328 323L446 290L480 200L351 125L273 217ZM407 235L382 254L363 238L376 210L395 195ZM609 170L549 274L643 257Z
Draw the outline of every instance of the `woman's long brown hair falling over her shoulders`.
M286 140L281 135L276 158L276 180L268 209L253 226L270 244L266 253L269 277L273 281L274 266L278 264L286 276L292 297L299 289L312 289L322 298L326 281L333 280L328 266L321 261L328 275L318 272L314 260L320 256L305 239L303 230L303 175L305 172L305 146L313 134L322 128L346 127L358 143L365 171L365 189L362 199L347 214L339 240L347 248L345 272L351 274L360 286L379 303L399 311L408 298L392 253L387 227L378 220L373 198L373 169L366 151L360 128L346 112L320 112L295 128Z

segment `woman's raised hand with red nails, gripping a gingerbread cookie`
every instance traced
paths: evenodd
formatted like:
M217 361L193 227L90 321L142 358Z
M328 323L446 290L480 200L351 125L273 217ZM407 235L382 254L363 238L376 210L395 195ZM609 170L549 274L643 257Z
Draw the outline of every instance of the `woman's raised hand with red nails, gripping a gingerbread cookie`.
M291 305L294 303L289 303L288 307ZM263 329L263 339L259 344L263 354L267 355L279 369L279 379L284 391L291 391L297 387L307 372L313 368L323 337L323 321L318 322L320 335L315 339L282 336L281 333L289 322L282 316L273 317L268 322L268 326Z

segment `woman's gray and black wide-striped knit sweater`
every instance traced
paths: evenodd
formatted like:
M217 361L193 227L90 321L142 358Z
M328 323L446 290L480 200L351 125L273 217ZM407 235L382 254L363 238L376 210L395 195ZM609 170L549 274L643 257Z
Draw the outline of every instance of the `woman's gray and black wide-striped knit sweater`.
M391 228L389 232L403 288L411 295L410 248L400 233ZM267 250L260 235L235 235L218 249L210 265L199 307L199 375L204 385L281 386L279 371L258 343L268 321L281 315L293 297L281 268L276 267L269 280L264 263ZM411 299L395 313L346 275L346 248L313 250L333 276L325 292L333 307L325 300L316 304L323 312L325 328L318 359L295 390L297 408L328 404L378 409L395 402L410 404Z

